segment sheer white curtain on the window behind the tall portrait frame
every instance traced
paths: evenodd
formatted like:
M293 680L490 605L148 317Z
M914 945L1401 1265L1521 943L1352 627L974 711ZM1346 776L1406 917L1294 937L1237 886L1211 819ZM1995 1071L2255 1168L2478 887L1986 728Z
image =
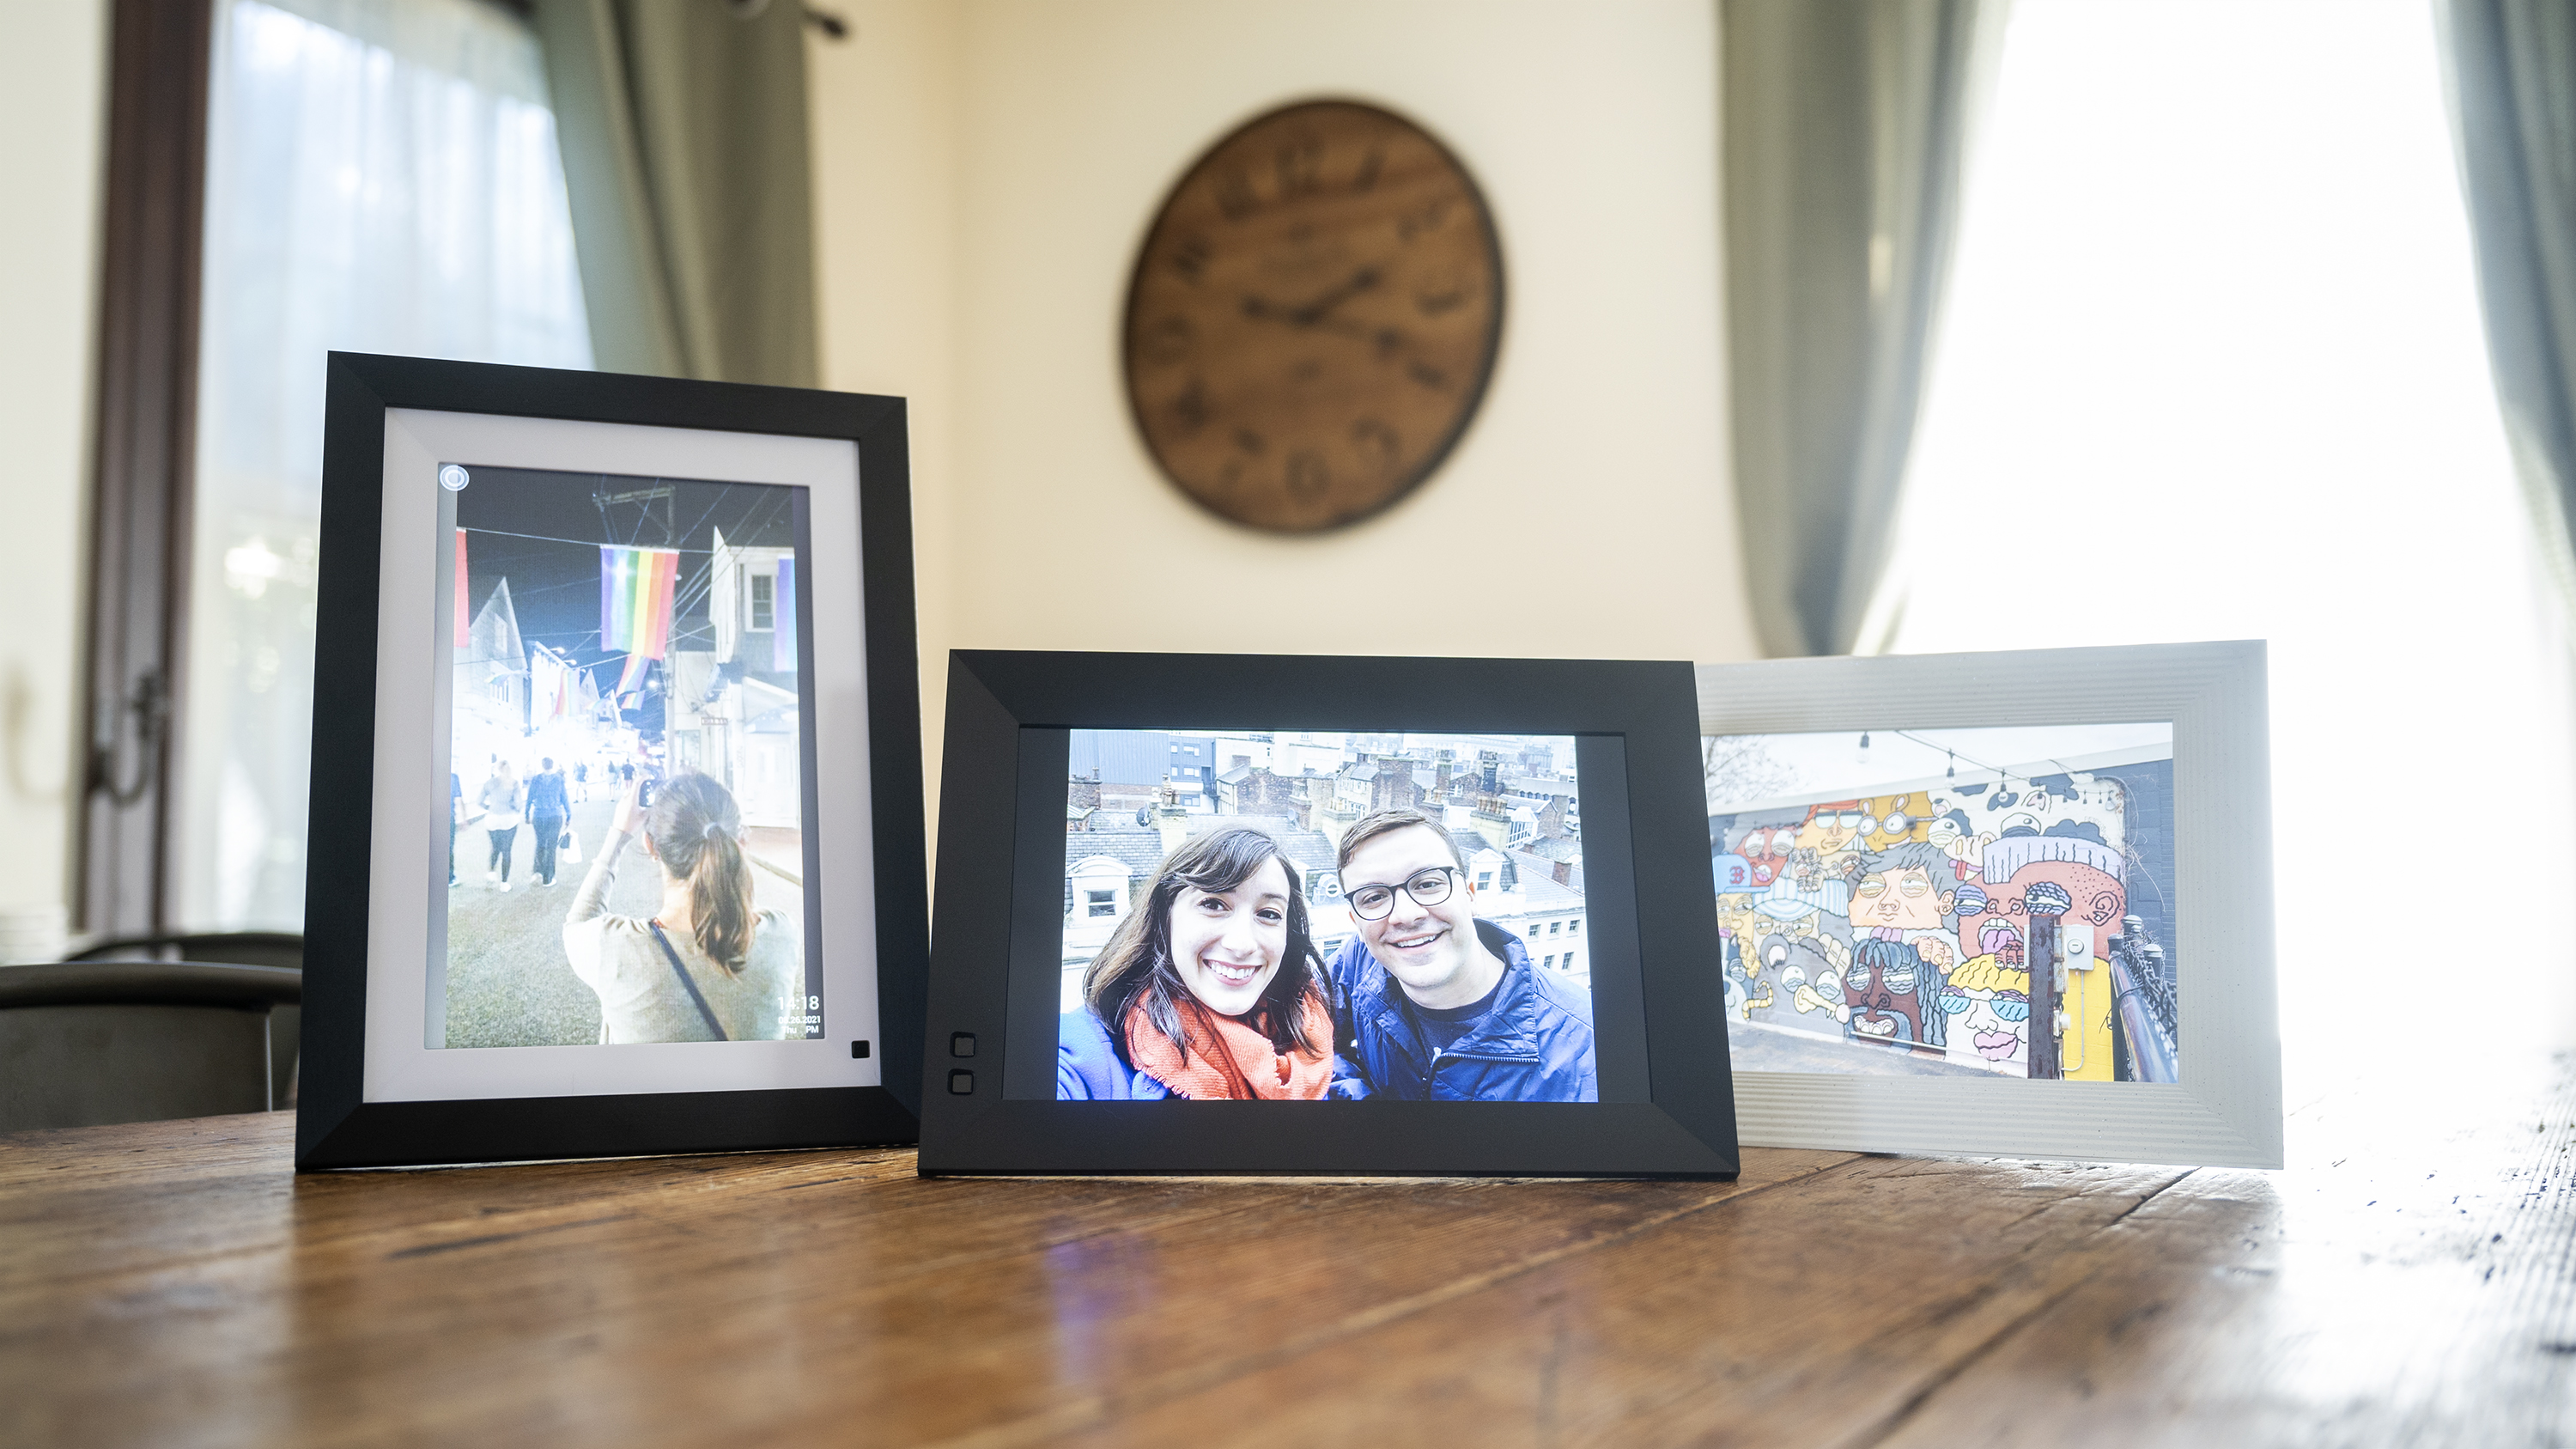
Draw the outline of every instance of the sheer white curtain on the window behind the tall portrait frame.
M322 361L590 366L536 39L484 0L219 0L180 920L304 923Z

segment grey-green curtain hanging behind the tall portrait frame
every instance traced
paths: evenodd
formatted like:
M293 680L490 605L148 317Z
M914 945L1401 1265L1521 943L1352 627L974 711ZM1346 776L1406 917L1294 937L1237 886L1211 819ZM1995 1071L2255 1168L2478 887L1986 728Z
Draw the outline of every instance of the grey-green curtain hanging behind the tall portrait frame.
M814 387L804 5L536 0L605 371Z

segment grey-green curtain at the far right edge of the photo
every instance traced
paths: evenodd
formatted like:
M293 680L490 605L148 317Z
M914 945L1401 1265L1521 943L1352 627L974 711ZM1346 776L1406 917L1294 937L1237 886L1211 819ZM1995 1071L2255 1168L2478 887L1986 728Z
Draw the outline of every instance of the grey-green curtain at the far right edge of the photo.
M2576 608L2576 10L2447 0L2439 15L2496 402Z

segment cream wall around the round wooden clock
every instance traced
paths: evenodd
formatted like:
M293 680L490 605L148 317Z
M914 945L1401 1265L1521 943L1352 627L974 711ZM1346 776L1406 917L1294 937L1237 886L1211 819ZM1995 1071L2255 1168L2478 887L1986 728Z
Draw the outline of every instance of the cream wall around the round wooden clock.
M914 397L933 730L951 645L1754 655L1708 0L878 0L853 18L814 64L824 369ZM1494 206L1510 297L1450 462L1368 523L1275 539L1154 472L1115 338L1164 188L1306 95L1440 134Z

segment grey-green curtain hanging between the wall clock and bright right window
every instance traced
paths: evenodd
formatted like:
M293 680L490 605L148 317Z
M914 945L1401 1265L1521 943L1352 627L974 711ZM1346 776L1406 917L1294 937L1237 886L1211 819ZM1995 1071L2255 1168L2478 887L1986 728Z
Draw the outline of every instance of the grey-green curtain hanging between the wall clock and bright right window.
M1850 652L1886 572L1999 15L1721 0L1736 503L1770 655Z

